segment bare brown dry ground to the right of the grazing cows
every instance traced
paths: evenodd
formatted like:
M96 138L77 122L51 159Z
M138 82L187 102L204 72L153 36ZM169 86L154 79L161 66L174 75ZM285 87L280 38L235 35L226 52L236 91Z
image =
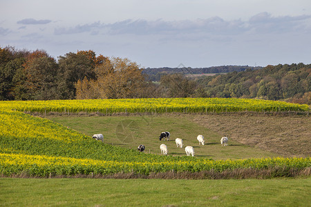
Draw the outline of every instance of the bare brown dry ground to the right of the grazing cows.
M311 156L310 116L222 113L192 117L196 123L227 135L229 141L232 139L284 157Z

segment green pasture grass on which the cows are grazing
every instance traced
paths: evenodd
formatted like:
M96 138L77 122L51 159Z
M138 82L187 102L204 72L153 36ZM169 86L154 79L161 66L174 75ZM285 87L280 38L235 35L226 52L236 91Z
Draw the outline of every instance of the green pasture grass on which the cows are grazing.
M140 144L146 147L145 152L160 155L160 144L167 144L169 155L186 155L185 146L194 146L196 157L212 159L247 159L261 157L276 157L254 146L247 146L232 139L229 146L221 146L222 134L214 132L195 123L189 116L178 115L149 115L149 116L107 116L107 117L48 117L57 123L91 137L102 133L106 144L113 144L124 148L137 148ZM162 131L169 131L171 139L160 141ZM196 137L205 137L205 146L199 146ZM182 138L184 148L177 148L175 139Z

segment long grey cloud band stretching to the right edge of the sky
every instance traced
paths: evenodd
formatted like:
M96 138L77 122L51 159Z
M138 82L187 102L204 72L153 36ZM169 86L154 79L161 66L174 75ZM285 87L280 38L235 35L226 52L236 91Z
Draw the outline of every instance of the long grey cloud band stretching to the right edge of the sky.
M283 33L294 31L309 31L308 21L311 16L302 15L296 17L282 16L272 17L267 12L254 15L248 21L235 19L227 21L220 17L209 19L164 21L158 19L147 21L145 19L126 19L115 23L90 23L70 28L55 28L54 34L79 34L87 32L92 35L98 34L135 34L135 35L162 35L165 37L185 38L190 34L200 34L201 37L217 37L220 35L232 37L240 34L252 33Z

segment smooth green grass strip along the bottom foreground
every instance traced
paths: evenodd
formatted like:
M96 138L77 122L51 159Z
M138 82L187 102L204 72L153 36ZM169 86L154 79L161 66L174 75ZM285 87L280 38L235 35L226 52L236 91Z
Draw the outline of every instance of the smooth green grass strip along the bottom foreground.
M311 178L0 178L1 206L310 206Z

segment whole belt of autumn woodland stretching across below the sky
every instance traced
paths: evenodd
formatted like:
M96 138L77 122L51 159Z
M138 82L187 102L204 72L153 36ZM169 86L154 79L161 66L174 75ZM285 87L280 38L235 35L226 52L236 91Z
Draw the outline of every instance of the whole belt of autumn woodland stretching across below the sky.
M185 75L206 72L220 74L195 79ZM311 64L304 63L144 69L93 50L55 59L44 50L0 47L0 100L236 97L310 105L310 91Z

